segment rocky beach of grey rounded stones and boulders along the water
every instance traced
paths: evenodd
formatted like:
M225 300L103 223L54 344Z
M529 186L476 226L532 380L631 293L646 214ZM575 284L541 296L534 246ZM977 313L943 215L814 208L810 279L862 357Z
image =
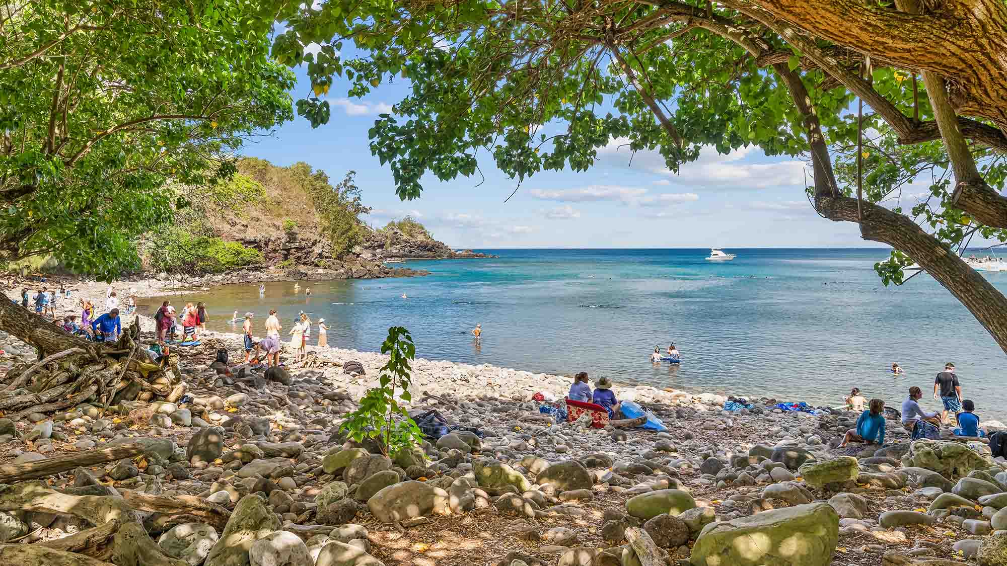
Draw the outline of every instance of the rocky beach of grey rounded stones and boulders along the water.
M104 289L79 293L104 300ZM11 336L0 347L3 375L35 361ZM532 401L562 398L569 378L416 360L410 414L436 410L453 430L387 457L338 430L387 357L312 348L285 372L222 375L218 348L244 360L237 334L175 348L188 387L178 403L0 420L0 463L144 443L141 460L79 468L51 488L78 497L92 477L223 508L121 538L156 541L172 566L1007 564L1007 462L981 442L912 443L888 423L884 447L838 449L858 415L783 412L764 398L727 411L723 396L617 383L617 398L668 430L596 429L552 422ZM349 361L364 374L344 373ZM18 509L0 513L0 539L18 547L88 528L73 513ZM129 552L109 560L126 566Z

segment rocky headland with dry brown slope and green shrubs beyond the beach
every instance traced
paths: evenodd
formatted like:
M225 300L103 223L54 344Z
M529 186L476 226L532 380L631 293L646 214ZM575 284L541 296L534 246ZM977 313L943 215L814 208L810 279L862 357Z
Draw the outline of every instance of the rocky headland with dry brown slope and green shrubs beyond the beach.
M166 230L141 244L144 271L214 279L348 279L426 272L392 268L391 259L488 257L456 253L419 223L404 219L369 227L353 172L332 184L306 163L279 167L238 161L230 180L183 189L186 205Z

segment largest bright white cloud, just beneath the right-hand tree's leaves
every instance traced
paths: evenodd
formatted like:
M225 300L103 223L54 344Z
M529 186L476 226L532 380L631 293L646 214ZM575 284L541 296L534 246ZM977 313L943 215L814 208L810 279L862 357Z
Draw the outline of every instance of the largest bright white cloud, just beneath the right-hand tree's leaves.
M781 159L768 163L746 161L755 157L755 146L740 147L722 155L713 146L704 146L699 158L683 163L679 172L672 172L665 164L665 158L658 151L629 150L626 138L614 138L598 150L598 158L610 166L625 167L632 156L632 166L652 173L666 175L668 179L655 184L681 184L719 189L761 189L784 186L804 186L805 163L797 159ZM621 146L621 147L620 147ZM667 182L662 182L667 181Z

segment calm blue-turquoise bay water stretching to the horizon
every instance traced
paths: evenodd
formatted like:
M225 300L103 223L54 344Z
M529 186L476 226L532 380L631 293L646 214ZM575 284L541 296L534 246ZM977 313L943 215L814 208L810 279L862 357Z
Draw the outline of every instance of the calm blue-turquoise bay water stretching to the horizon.
M428 360L814 404L839 405L859 387L897 407L916 385L934 410L933 378L953 362L977 414L1007 420L1007 357L925 273L882 285L873 265L886 249L725 250L731 262L696 249L483 251L500 257L412 261L431 275L302 282L299 293L282 282L262 295L234 285L164 298L205 301L215 330L234 331L232 313L251 310L261 335L276 308L286 331L304 310L338 347L379 350L388 327L404 325ZM1007 290L1007 273L986 275ZM652 364L655 345L672 341L681 366ZM893 378L893 362L907 375Z

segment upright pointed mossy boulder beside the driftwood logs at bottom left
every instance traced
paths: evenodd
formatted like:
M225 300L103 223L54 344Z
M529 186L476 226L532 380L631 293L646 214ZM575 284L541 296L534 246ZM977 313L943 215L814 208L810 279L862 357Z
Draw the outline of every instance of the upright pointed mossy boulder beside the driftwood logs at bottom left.
M280 529L280 518L266 501L251 493L235 506L220 540L206 556L205 566L248 566L249 550L259 539Z

